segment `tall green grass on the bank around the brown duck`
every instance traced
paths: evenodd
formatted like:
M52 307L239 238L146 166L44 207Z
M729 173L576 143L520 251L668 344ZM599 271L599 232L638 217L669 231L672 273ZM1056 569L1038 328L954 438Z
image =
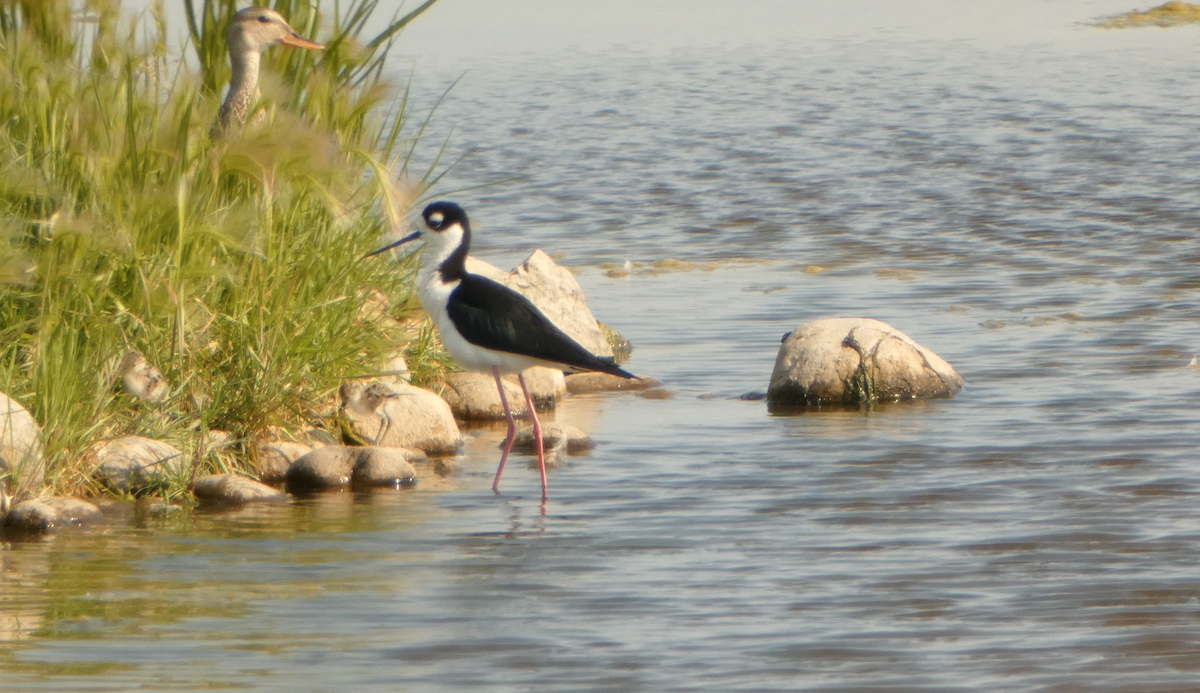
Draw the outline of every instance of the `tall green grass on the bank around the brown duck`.
M55 492L96 490L85 452L116 435L176 445L192 475L252 469L250 441L322 426L343 379L407 342L424 378L444 360L402 323L410 267L360 261L432 182L408 171L424 126L383 70L432 1L371 37L378 0L277 0L328 48L268 50L265 122L218 141L236 7L185 5L180 60L161 5L0 4L0 391L42 426ZM386 309L365 309L379 293ZM166 402L122 392L131 348L167 375ZM209 429L240 452L206 451Z

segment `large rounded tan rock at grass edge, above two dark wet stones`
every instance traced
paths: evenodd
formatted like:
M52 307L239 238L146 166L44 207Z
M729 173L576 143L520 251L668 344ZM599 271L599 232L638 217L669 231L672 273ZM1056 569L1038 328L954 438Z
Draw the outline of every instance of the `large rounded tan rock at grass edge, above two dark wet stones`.
M462 446L450 405L407 382L342 385L341 416L362 442L449 454Z

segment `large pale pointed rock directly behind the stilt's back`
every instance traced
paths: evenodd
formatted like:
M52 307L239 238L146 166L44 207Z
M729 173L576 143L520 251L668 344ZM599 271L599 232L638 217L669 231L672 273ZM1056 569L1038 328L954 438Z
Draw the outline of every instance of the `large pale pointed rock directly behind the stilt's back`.
M558 329L566 332L596 356L612 356L596 319L588 309L583 289L565 267L541 251L534 251L511 272L504 272L482 260L467 257L467 271L484 275L515 289L533 302Z

